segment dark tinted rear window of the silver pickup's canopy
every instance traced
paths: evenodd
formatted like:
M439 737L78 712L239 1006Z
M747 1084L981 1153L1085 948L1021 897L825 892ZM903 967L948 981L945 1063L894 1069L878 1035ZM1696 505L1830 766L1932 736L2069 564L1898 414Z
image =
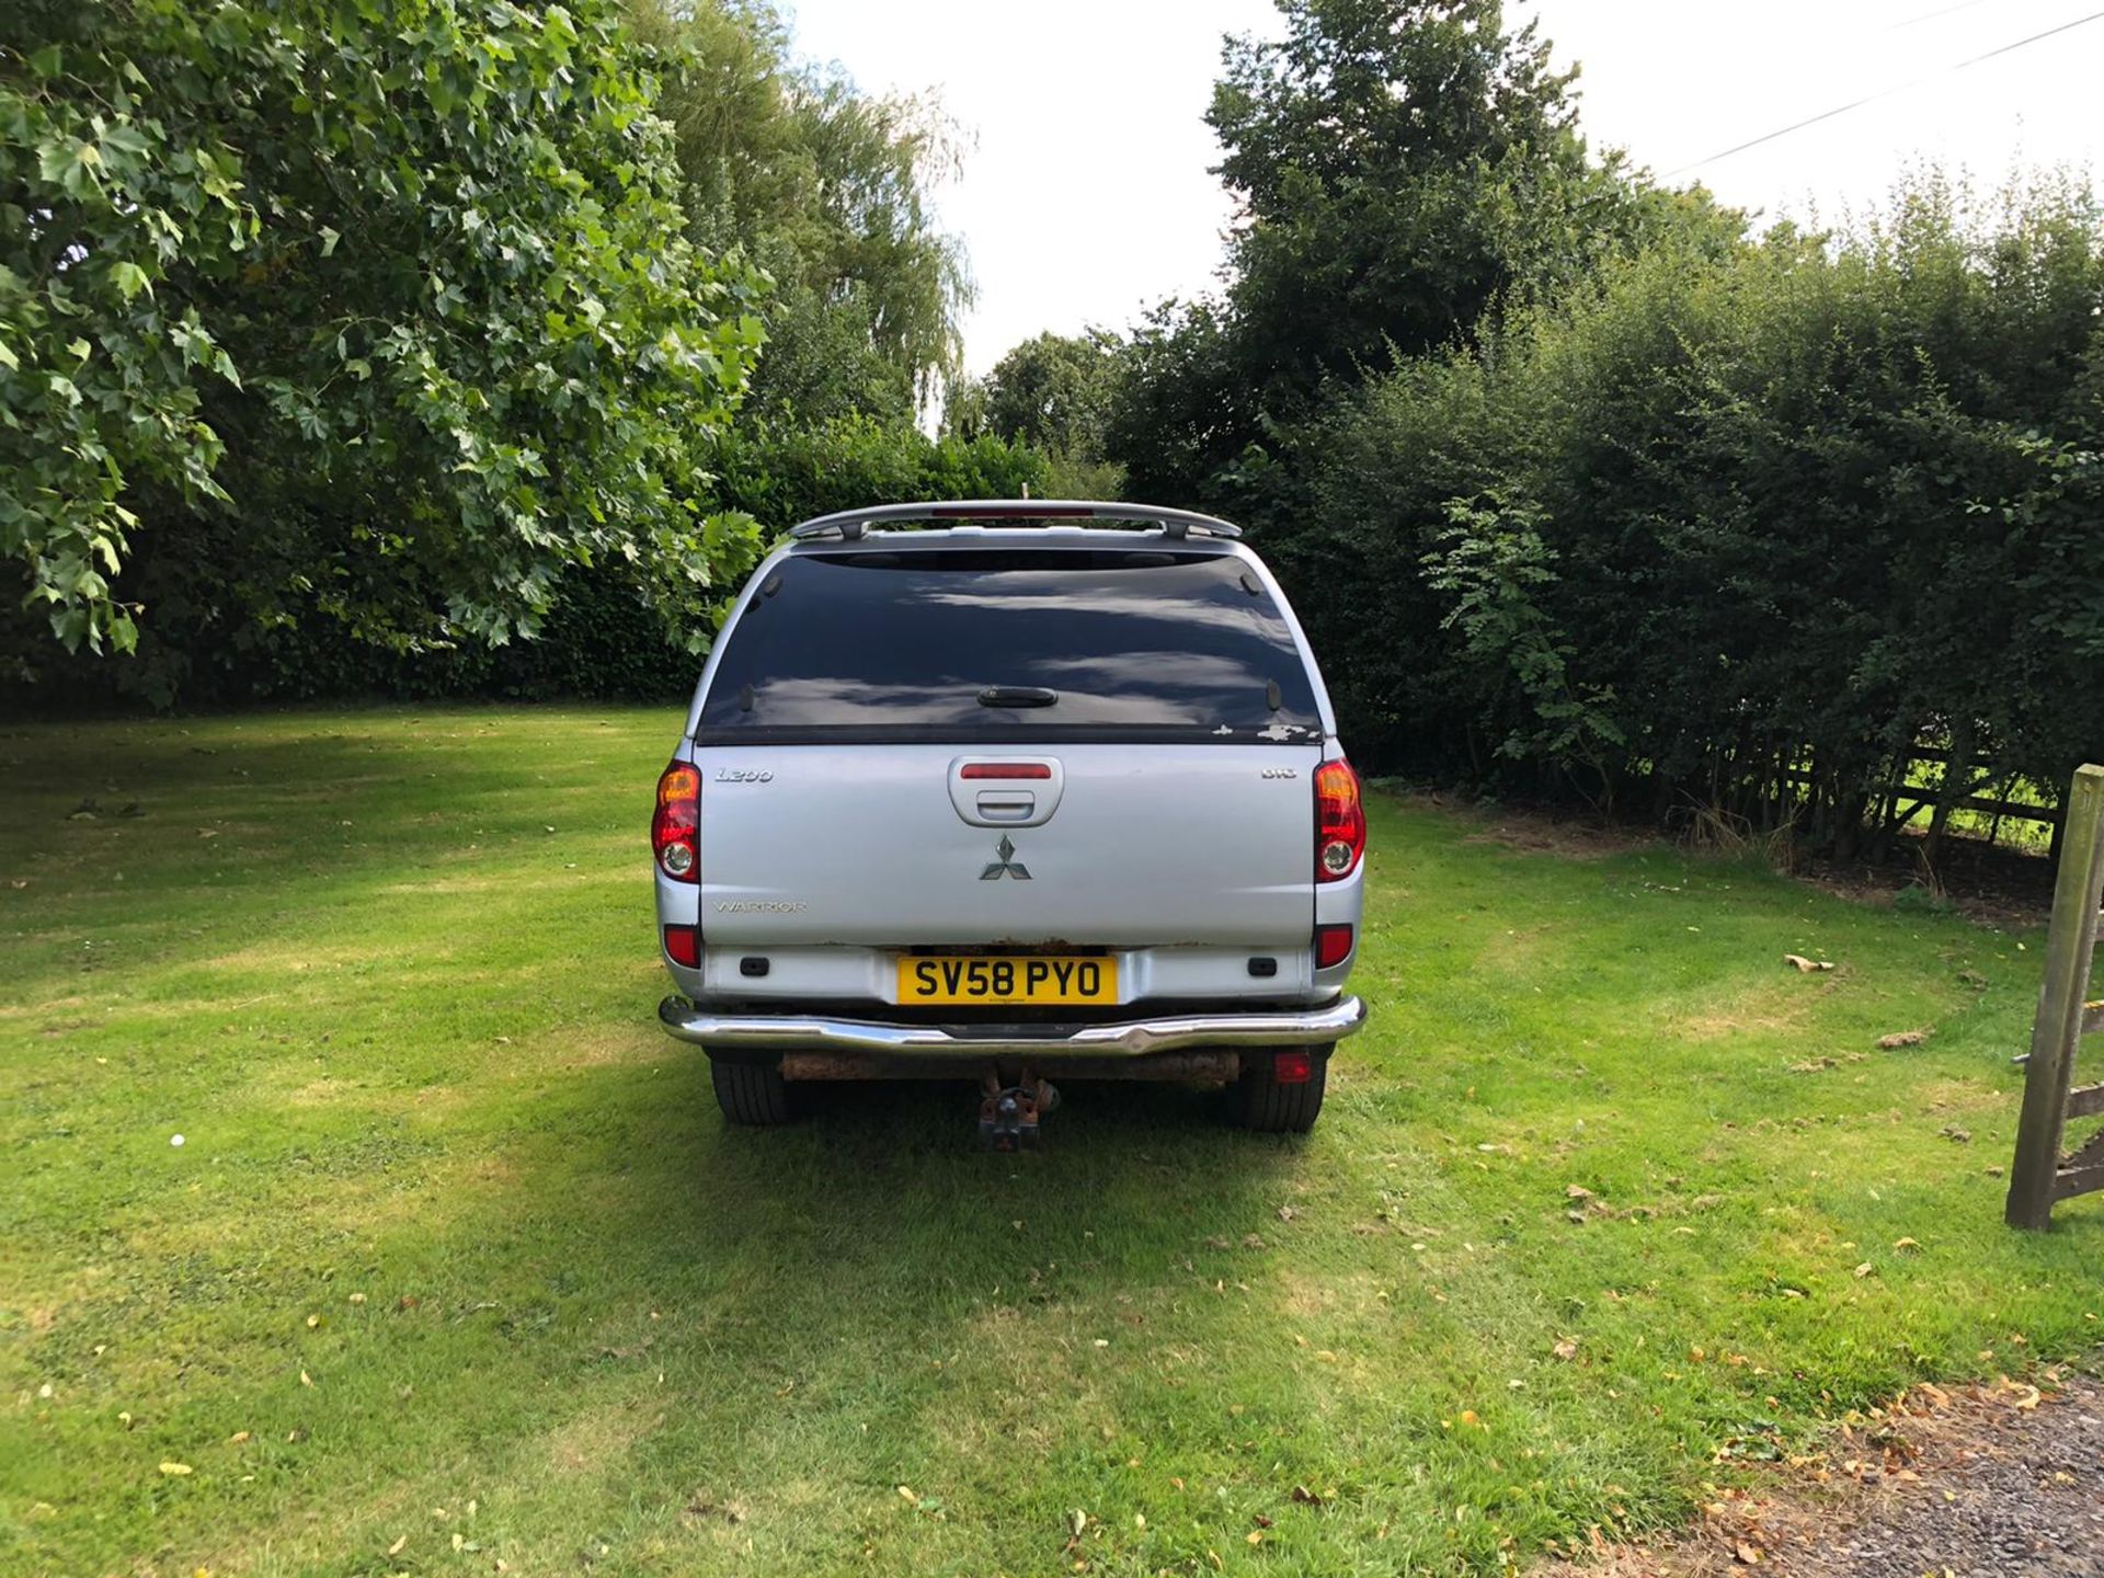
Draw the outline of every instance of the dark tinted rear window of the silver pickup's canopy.
M766 587L724 638L705 743L1321 734L1286 619L1235 558L867 549L785 560Z

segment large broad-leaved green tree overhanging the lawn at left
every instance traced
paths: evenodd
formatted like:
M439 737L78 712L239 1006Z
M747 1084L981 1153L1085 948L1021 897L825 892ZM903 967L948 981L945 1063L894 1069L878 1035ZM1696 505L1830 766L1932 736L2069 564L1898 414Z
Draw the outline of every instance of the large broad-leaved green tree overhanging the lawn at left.
M67 646L530 633L755 549L760 339L604 0L27 0L0 23L0 551Z

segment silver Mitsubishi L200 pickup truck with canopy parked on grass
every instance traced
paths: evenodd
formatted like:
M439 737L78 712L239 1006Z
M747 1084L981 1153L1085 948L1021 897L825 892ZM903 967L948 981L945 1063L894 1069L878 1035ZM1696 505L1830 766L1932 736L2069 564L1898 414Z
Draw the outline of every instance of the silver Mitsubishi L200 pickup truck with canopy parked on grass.
M739 595L659 778L665 1029L724 1115L806 1079L1225 1081L1304 1132L1359 936L1365 812L1292 610L1210 515L882 505Z

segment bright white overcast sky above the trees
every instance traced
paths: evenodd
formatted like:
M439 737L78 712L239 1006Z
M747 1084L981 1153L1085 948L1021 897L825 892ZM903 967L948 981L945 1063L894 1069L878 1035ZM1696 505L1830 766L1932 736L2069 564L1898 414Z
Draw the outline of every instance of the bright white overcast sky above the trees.
M1675 183L1776 215L1877 202L1908 160L1997 185L2014 164L2104 164L2098 0L1536 0L1580 63L1582 120ZM2066 27L2085 17L2087 25ZM934 88L976 143L940 194L978 280L966 362L1052 328L1130 326L1206 290L1229 200L1201 120L1220 36L1271 0L793 0L797 48L871 90ZM1950 69L2032 34L2043 42ZM1727 147L1868 95L1759 147ZM1694 168L1683 168L1694 166Z

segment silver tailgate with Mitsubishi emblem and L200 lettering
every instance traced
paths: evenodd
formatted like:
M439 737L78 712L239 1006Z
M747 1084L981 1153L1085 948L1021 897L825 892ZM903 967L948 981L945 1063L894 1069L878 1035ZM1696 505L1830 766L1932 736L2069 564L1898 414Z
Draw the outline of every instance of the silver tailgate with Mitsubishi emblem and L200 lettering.
M1317 745L701 747L703 938L1304 947L1319 762Z

